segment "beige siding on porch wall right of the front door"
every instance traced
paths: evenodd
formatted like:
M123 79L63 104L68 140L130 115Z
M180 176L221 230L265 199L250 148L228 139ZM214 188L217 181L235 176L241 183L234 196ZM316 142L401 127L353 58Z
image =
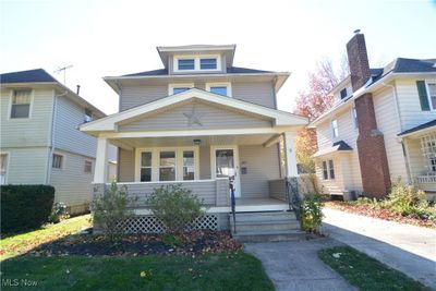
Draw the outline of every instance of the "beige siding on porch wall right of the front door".
M277 146L240 145L239 160L240 168L246 168L246 174L241 173L241 197L268 197L268 181L280 178Z

